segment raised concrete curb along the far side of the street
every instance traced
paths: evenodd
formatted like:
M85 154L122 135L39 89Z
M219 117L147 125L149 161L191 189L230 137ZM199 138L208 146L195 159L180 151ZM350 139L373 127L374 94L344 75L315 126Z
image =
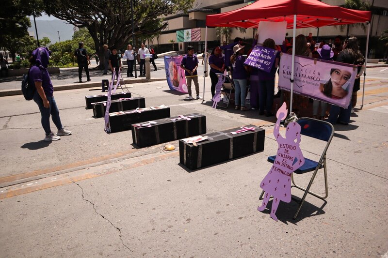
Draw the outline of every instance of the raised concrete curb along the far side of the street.
M146 83L146 82L154 82L154 81L163 81L167 80L166 78L154 78L154 79L125 79L125 84L133 84L133 83ZM76 89L86 89L86 88L96 88L101 87L101 82L84 82L84 83L72 83L65 85L54 86L54 91L66 91L66 90L76 90ZM5 90L0 91L0 97L6 96L15 96L15 95L23 95L21 90Z

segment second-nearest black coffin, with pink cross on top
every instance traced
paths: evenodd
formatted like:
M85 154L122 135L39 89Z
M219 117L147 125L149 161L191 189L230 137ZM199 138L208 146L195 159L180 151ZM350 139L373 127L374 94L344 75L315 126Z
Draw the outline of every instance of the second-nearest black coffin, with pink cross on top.
M185 119L188 118L190 120ZM151 122L151 121L150 121ZM133 143L140 148L186 137L206 134L206 117L194 113L153 120L156 124L132 124Z

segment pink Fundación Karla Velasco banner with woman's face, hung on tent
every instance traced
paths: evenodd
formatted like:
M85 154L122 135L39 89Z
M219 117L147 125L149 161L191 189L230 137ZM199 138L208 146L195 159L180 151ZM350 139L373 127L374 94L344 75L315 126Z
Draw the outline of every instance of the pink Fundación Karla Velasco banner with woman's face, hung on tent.
M291 58L280 58L278 87L291 91ZM357 67L334 61L295 56L293 92L347 108L352 96Z

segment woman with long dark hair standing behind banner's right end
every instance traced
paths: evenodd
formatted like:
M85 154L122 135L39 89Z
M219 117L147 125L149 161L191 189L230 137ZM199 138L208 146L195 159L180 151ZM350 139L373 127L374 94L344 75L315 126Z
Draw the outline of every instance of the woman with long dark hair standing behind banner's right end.
M362 55L357 45L356 37L350 37L345 41L343 50L338 54L337 61L358 65L355 84L353 86L352 101L350 102L349 106L347 108L334 105L330 107L330 116L328 120L330 123L336 124L337 122L340 122L342 124L348 124L350 122L350 114L352 109L354 106L356 106L357 91L360 89L360 76L362 74L361 65L365 62L364 56Z

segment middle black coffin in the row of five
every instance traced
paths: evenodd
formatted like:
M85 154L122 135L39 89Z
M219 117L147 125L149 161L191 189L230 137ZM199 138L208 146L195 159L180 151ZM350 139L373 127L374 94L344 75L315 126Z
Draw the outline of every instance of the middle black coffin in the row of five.
M139 112L137 112L138 110ZM169 107L146 107L135 110L109 113L107 131L110 133L130 130L133 123L170 117Z

